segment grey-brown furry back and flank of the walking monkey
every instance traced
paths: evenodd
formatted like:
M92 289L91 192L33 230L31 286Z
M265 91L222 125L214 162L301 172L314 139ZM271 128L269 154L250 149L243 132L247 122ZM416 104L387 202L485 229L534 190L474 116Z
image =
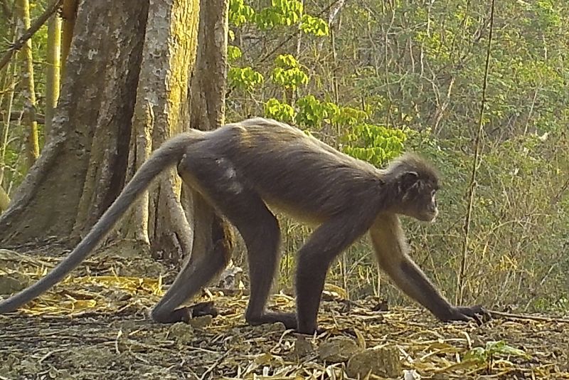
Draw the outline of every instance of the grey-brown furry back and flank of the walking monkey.
M304 221L361 206L373 187L381 186L376 167L275 120L225 125L211 137L208 149L228 160L237 181Z

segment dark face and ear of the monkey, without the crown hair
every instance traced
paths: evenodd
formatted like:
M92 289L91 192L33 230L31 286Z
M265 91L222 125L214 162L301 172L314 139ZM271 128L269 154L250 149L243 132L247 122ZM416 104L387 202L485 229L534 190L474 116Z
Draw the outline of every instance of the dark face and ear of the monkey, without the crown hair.
M414 171L405 173L402 186L401 213L420 221L434 222L439 214L436 180L421 178Z

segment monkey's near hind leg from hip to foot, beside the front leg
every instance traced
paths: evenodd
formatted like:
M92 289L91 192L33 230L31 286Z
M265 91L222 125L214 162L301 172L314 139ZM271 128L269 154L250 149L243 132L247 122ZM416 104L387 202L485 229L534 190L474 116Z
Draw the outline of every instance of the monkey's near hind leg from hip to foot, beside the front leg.
M250 280L245 320L252 325L282 322L287 328L296 328L294 313L265 311L279 260L280 227L275 215L227 159L208 157L207 152L188 152L179 171L187 184L228 218L245 241Z

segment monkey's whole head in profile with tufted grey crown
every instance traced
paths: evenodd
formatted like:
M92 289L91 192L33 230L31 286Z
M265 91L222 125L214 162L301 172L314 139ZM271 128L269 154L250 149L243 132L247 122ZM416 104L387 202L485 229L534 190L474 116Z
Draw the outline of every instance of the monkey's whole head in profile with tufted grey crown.
M435 198L440 187L437 171L415 154L395 159L386 171L387 179L393 181L395 212L420 221L435 221L439 213Z

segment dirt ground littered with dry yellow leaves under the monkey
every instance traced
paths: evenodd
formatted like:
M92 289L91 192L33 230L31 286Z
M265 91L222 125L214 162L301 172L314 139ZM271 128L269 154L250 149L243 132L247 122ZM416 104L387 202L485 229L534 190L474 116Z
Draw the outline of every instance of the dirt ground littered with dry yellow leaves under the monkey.
M0 250L2 294L57 260ZM0 379L569 379L567 321L443 324L418 308L374 311L376 300L326 295L324 332L305 337L282 324L247 326L248 297L215 290L201 300L221 315L156 324L148 312L160 280L125 275L116 264L93 259L0 316ZM274 295L271 305L291 310L294 300Z

